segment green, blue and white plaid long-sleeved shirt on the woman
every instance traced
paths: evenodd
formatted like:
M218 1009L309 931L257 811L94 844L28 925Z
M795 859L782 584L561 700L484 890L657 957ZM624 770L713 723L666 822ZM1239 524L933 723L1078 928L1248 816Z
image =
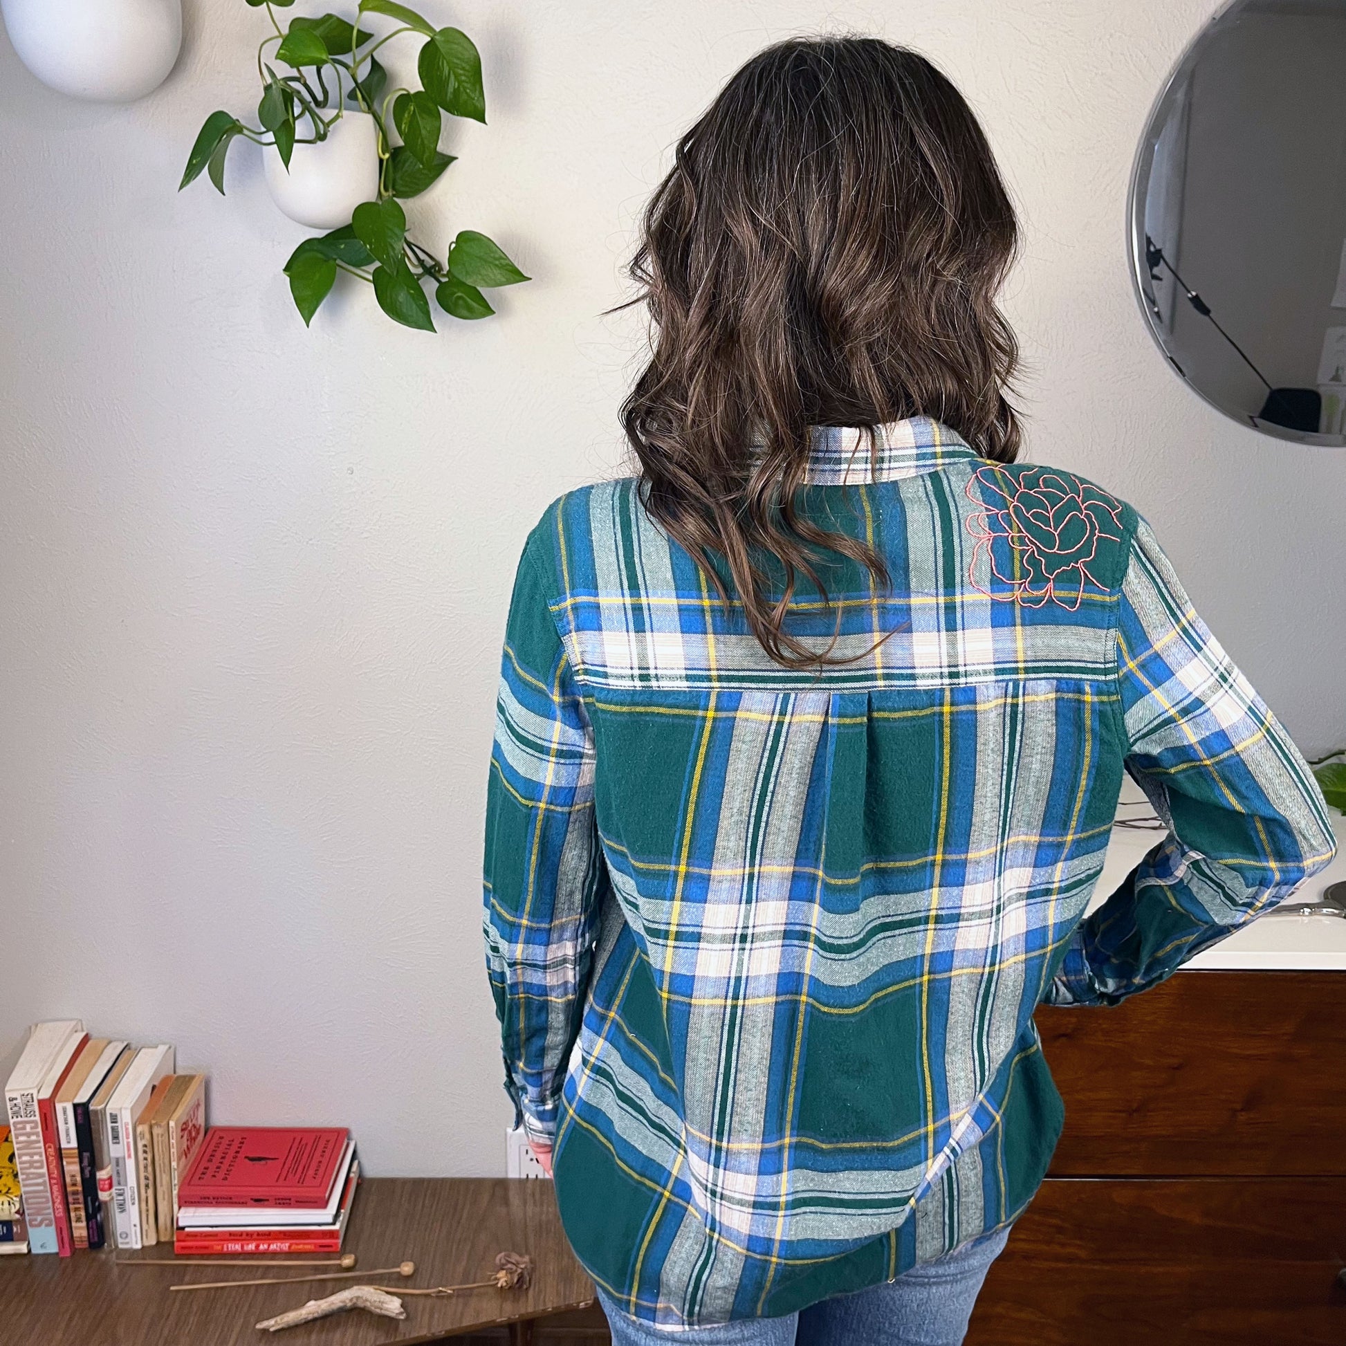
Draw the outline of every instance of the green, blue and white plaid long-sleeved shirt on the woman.
M1112 1003L1333 833L1149 529L935 421L818 431L800 509L870 542L773 664L630 479L529 537L486 832L507 1088L629 1312L790 1312L1012 1221L1061 1100L1034 1008ZM1082 919L1123 771L1170 835Z

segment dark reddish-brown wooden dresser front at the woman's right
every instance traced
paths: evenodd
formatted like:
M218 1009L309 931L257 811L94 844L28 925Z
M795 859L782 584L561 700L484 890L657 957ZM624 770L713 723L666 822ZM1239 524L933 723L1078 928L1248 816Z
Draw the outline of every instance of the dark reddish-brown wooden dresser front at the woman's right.
M1346 975L1036 1019L1066 1128L968 1346L1346 1343Z

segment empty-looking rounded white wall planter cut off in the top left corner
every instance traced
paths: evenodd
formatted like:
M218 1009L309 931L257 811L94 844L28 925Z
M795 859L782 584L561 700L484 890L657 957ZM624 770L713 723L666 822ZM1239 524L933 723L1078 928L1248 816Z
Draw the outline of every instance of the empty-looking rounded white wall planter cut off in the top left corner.
M133 102L168 78L182 0L0 0L19 59L73 98Z

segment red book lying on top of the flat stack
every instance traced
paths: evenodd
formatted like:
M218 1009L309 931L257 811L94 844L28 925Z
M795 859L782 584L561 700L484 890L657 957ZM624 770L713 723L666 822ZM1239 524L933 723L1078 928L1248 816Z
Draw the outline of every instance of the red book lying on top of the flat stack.
M322 1210L346 1135L345 1127L211 1127L178 1187L178 1206Z

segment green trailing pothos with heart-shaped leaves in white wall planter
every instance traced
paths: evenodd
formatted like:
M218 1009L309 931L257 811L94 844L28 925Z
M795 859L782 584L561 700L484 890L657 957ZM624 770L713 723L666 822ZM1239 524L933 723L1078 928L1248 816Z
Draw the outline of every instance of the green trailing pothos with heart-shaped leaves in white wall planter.
M229 112L213 112L197 136L178 190L205 171L223 195L225 157L236 140L275 145L288 171L296 144L326 140L347 109L369 113L378 137L377 198L357 206L349 225L306 238L285 262L289 291L304 323L312 322L338 272L370 283L384 312L406 327L435 330L427 280L433 283L439 307L454 318L493 314L482 291L529 277L486 234L472 229L462 230L440 261L408 236L400 205L419 197L454 162L454 155L439 148L443 113L486 121L482 59L472 40L458 28L436 28L393 0L359 0L354 23L324 13L316 19L293 17L285 28L276 11L289 8L295 0L246 3L253 9L264 8L273 28L257 48L260 125L248 125ZM397 27L376 38L361 27L370 13L385 15ZM376 52L406 34L427 39L416 63L421 87L388 89L388 71ZM285 73L279 74L277 66ZM400 144L393 143L389 124Z

